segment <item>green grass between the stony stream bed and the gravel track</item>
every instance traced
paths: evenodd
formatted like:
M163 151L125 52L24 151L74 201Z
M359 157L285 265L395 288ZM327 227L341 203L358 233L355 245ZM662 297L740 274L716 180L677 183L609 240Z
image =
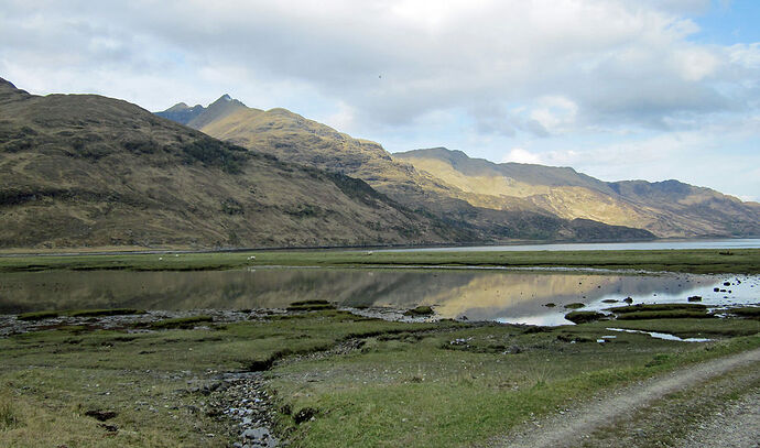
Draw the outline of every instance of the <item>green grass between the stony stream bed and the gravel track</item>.
M317 411L314 422L281 415L280 424L297 446L469 446L601 389L760 343L754 337L699 346L629 334L605 346L571 342L605 334L484 326L374 340L360 354L279 367L272 385L284 407ZM463 342L448 349L452 341Z

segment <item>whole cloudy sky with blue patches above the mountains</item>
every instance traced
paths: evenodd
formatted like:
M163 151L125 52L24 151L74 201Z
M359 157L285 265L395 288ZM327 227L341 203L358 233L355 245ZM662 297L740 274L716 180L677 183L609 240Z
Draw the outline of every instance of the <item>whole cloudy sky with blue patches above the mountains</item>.
M757 0L0 0L0 77L760 200Z

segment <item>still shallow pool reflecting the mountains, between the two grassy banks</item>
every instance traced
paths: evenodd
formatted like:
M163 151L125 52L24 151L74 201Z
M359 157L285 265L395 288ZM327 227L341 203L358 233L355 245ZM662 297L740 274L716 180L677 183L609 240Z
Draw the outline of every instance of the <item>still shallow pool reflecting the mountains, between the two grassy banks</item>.
M728 282L730 286L724 286ZM726 289L714 292L718 287ZM729 293L730 291L730 293ZM602 309L634 303L709 306L760 303L760 276L632 275L587 271L443 269L257 269L203 272L37 272L0 275L0 314L43 309L278 308L304 299L346 307L431 305L441 317L568 324L564 305ZM546 307L547 303L556 306Z

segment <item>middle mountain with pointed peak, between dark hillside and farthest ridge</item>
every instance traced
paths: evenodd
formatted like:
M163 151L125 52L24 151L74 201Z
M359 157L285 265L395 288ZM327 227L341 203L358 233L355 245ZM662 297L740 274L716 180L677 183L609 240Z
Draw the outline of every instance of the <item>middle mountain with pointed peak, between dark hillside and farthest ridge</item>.
M224 98L224 97L222 97ZM229 103L227 99L224 103ZM215 105L219 102L217 100ZM241 103L240 103L241 105ZM376 142L354 139L285 109L235 107L208 111L187 122L208 135L253 151L367 182L419 212L470 234L470 240L647 239L652 234L589 219L565 219L528 200L506 203L447 184L412 164L395 160ZM171 110L171 109L170 109ZM158 112L166 116L167 111Z

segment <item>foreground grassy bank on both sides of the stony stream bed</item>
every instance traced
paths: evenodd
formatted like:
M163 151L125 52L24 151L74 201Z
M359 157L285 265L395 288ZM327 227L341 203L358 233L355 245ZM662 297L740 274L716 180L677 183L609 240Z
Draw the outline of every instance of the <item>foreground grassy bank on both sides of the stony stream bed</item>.
M573 400L760 346L757 320L690 320L615 326L716 341L609 323L404 324L336 310L52 327L0 339L0 446L228 446L235 424L209 391L220 373L246 370L264 371L275 429L293 446L476 444ZM596 342L605 335L616 338ZM113 415L101 423L104 413Z

